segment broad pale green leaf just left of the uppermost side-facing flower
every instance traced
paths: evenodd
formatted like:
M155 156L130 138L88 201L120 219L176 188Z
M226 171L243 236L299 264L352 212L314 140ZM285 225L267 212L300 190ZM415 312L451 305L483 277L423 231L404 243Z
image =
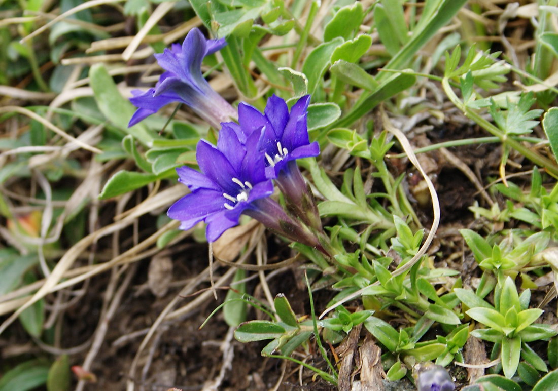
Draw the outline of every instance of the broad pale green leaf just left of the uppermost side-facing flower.
M139 123L128 128L128 122L136 108L120 94L104 65L93 65L89 70L89 79L101 113L119 129L131 134L143 145L151 146L155 135L151 135L145 125Z

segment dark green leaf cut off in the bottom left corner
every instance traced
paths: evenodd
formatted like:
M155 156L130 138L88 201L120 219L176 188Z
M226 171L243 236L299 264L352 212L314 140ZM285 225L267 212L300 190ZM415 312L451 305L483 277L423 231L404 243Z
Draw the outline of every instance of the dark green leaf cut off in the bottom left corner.
M46 383L49 364L42 360L21 363L4 373L0 379L0 391L27 391Z

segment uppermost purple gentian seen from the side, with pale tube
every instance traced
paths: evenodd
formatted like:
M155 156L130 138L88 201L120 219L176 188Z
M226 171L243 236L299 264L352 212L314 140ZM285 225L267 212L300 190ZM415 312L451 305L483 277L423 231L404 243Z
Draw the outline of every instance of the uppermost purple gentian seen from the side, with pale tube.
M209 86L201 73L204 57L227 45L224 38L206 40L198 28L190 30L182 45L156 54L157 62L166 70L155 88L145 92L134 90L132 104L138 107L128 126L133 126L161 107L171 102L181 102L190 106L196 114L210 125L219 128L223 121L236 119L237 113L230 104Z

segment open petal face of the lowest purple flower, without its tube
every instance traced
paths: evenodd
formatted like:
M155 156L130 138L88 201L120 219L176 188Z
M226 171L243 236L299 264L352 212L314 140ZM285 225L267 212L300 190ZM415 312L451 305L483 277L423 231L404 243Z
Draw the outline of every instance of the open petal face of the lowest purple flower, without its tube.
M220 131L217 147L200 140L196 158L201 172L189 167L176 169L179 181L192 193L170 207L169 217L179 220L181 229L205 221L206 237L213 242L237 225L246 209L257 209L255 202L273 193L263 155L247 153L256 148L258 140L259 134L254 133L243 145L227 126Z

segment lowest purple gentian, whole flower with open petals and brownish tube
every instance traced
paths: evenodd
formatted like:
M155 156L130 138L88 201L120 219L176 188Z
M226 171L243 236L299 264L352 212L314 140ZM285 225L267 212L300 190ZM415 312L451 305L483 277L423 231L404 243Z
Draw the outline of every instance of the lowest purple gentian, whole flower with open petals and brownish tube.
M247 214L291 240L321 248L313 233L269 197L273 182L266 177L265 158L257 149L263 130L254 131L242 144L233 128L223 124L217 147L199 141L196 159L201 172L189 167L176 169L179 181L191 193L169 208L169 217L181 222L180 229L205 221L206 238L214 242L238 224L240 214Z

